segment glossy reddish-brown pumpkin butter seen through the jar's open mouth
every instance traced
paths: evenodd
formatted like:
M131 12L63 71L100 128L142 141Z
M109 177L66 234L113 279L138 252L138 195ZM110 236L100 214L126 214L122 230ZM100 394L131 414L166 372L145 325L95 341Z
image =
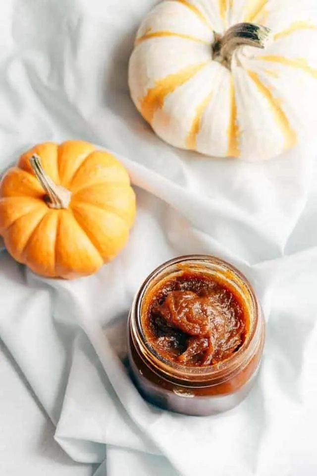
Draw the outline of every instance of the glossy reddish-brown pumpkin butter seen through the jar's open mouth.
M150 294L142 327L148 343L165 361L213 365L241 347L248 315L228 285L188 270L167 278Z

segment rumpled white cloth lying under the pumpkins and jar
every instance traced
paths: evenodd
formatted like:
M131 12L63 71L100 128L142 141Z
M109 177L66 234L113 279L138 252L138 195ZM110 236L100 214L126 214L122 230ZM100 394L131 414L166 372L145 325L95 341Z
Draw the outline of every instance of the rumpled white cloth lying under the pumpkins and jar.
M100 463L96 476L316 475L316 143L257 165L161 142L127 88L134 34L154 3L1 5L1 171L36 142L90 140L129 169L138 214L124 252L89 278L44 280L0 252L0 337L56 441L75 461ZM148 405L122 364L135 291L186 253L238 266L267 321L256 387L220 416Z

